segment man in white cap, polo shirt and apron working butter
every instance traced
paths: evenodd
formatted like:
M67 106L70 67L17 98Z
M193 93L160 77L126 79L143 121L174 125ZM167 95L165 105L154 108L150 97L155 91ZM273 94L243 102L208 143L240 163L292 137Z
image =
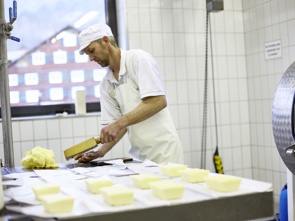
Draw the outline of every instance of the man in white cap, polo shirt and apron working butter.
M101 129L98 150L78 163L103 157L128 131L129 156L155 163L183 164L183 150L166 101L155 59L143 50L120 50L109 26L94 24L79 35L80 54L109 70L100 84Z

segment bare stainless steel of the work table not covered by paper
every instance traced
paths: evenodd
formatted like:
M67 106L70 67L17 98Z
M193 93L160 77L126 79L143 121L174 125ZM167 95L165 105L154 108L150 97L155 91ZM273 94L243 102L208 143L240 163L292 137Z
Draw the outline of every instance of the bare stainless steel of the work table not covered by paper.
M134 162L134 161L133 161ZM92 167L90 163L85 164L58 164L60 168L48 169L72 169L75 167ZM44 169L44 168L37 168ZM46 168L47 169L47 168ZM32 168L24 167L2 167L2 175L11 173L31 172ZM9 211L2 212L9 214ZM97 213L83 215L81 217L63 218L57 220L116 220L116 221L150 221L150 220L204 220L204 221L243 221L258 218L272 217L273 192L257 192L234 197L218 198L178 204L164 207L153 207L140 210L129 210L124 212Z

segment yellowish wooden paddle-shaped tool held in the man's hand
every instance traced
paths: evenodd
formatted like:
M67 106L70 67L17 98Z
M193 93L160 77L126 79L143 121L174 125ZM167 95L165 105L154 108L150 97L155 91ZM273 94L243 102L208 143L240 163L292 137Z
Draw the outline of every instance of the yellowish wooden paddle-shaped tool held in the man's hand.
M63 153L65 154L65 159L70 160L72 158L76 158L80 154L85 153L86 151L89 151L97 147L99 143L100 143L99 137L97 138L92 137L86 141L81 142L80 144L77 144L68 149L65 149L63 151Z

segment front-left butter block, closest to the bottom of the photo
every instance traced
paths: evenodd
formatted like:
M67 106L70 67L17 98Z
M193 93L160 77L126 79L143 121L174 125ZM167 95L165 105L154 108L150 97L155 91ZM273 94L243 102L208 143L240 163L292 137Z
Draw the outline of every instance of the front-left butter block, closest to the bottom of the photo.
M41 202L49 213L71 212L74 198L65 194L49 194L43 195Z

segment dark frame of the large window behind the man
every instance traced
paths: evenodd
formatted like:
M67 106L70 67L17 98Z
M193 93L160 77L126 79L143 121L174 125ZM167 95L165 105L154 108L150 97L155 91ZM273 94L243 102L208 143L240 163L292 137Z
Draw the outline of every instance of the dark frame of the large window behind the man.
M114 38L119 46L118 32L117 32L117 15L116 3L112 0L105 0L106 24L112 29ZM1 107L0 107L1 110ZM86 103L86 113L100 112L100 102ZM69 104L55 104L55 105L36 105L36 106L15 106L11 107L11 117L32 117L32 116L50 116L56 113L67 112L68 114L75 113L74 103ZM0 117L1 111L0 111Z

